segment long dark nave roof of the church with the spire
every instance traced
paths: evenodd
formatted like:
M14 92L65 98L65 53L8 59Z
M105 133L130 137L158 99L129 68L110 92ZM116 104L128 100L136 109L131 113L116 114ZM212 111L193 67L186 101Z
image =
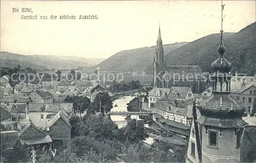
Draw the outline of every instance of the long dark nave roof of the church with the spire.
M166 65L166 69L170 80L202 79L202 70L198 65Z

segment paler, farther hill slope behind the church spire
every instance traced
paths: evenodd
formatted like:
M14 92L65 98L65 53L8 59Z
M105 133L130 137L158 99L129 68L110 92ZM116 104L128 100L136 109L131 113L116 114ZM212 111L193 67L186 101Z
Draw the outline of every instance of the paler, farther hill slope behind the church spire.
M165 52L170 52L187 42L163 45ZM105 71L143 71L149 64L153 64L156 46L125 50L104 60L98 67ZM151 69L152 71L152 69ZM148 71L147 71L148 72Z

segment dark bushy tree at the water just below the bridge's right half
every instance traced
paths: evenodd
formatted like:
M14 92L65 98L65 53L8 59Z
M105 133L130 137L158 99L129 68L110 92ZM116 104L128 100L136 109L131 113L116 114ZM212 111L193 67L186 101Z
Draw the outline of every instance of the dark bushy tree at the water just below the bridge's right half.
M148 138L148 134L144 129L144 122L137 121L135 119L132 119L127 122L127 127L124 134L127 140L133 143L145 141L145 139Z

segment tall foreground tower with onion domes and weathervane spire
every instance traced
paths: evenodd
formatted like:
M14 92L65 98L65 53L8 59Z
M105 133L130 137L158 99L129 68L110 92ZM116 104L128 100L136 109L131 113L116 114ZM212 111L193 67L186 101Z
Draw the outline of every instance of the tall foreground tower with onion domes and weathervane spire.
M224 5L221 7L223 13ZM231 62L224 58L222 22L219 58L211 63L214 71L210 75L213 81L212 96L197 106L194 104L186 162L240 161L240 139L247 125L242 120L245 106L231 97ZM201 117L197 117L196 109L200 111Z

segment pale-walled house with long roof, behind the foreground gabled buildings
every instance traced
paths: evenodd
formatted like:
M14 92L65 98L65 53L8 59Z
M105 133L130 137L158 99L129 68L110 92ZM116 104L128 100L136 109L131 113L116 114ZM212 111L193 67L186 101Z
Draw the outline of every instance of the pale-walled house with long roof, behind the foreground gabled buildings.
M73 115L73 103L32 103L29 104L29 119L38 127L46 127L47 123L61 110Z

